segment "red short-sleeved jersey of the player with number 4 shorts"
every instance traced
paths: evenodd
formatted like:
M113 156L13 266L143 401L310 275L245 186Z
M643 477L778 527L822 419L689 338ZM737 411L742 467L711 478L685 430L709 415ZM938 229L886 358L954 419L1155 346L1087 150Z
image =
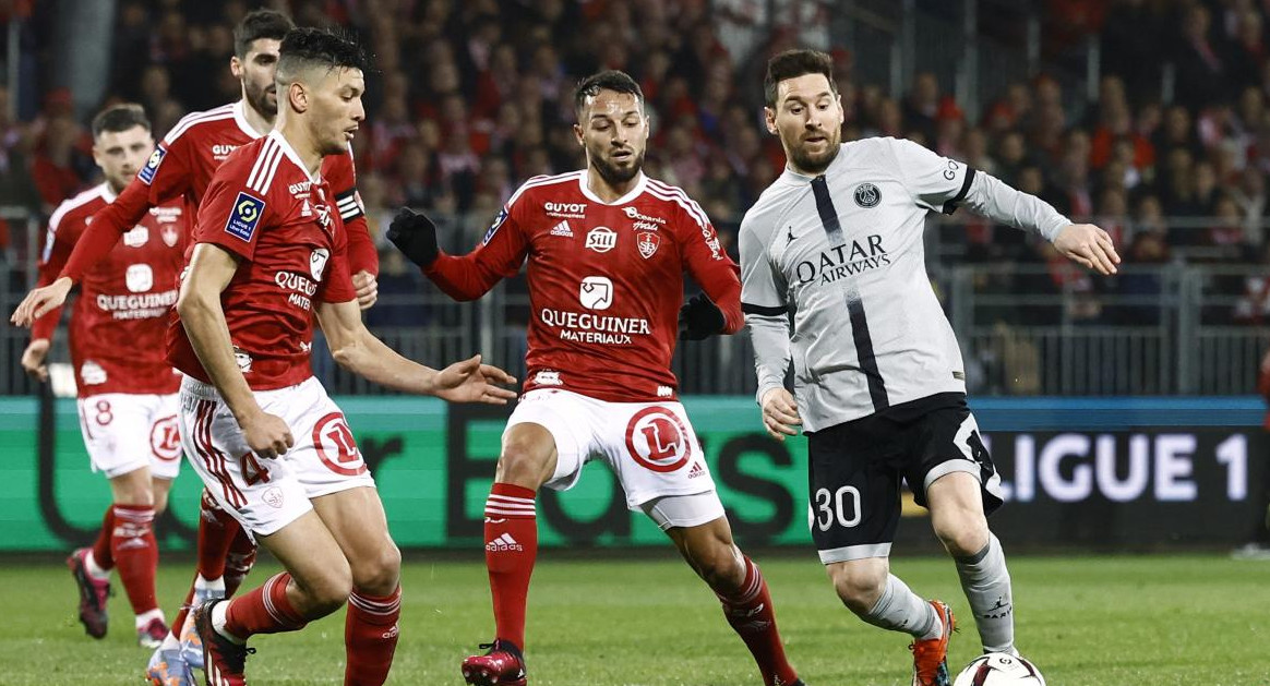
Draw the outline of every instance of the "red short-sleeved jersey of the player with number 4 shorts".
M326 180L310 178L291 144L273 131L216 170L198 210L194 243L239 258L221 306L248 385L272 390L312 376L312 301L357 299L348 236ZM177 316L168 330L168 360L211 382Z

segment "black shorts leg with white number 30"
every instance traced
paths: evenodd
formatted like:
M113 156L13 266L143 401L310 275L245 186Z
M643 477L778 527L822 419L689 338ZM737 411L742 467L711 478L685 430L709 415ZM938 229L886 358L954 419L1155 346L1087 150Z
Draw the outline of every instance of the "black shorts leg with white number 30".
M861 422L808 433L808 522L826 565L886 558L899 526L895 437Z

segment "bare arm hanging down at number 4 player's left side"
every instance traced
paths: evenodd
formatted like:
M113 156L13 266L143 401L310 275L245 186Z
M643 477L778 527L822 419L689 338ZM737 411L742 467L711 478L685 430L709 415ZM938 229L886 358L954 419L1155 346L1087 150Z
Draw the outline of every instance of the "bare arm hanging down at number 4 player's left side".
M234 344L221 309L221 292L236 271L237 260L230 252L207 243L196 245L177 297L177 313L198 361L234 413L248 446L262 457L276 457L287 452L295 438L286 422L262 410L251 395L234 361Z

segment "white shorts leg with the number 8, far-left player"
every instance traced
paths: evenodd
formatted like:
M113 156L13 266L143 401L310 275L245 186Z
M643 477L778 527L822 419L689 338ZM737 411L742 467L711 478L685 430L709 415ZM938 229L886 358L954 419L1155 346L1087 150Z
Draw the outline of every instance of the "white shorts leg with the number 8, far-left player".
M146 398L107 393L79 399L80 432L93 471L114 479L150 466L151 408Z

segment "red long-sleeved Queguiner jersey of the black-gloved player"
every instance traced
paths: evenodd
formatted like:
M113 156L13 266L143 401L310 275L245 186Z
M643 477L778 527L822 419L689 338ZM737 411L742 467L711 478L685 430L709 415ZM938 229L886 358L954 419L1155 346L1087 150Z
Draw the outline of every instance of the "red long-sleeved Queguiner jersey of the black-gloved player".
M737 264L696 202L640 175L605 203L587 173L535 177L507 202L475 250L442 254L424 273L456 300L475 300L528 259L525 390L565 389L616 403L673 399L683 272L743 324Z

